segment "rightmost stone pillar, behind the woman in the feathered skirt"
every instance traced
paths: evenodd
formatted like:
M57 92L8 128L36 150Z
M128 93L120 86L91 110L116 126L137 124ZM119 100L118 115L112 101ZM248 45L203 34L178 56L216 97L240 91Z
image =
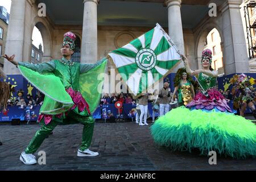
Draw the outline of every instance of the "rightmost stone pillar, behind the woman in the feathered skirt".
M241 3L242 0L228 0L220 8L226 75L249 72L249 58L240 13Z

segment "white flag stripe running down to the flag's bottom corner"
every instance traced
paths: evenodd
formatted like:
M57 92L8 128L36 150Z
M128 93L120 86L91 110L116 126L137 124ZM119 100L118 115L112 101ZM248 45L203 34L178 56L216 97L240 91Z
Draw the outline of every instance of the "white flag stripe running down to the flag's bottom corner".
M135 71L133 75L131 75L131 77L126 81L126 84L129 86L131 92L133 92L135 96L139 92L139 82L141 81L141 76L142 70L137 69L137 71Z

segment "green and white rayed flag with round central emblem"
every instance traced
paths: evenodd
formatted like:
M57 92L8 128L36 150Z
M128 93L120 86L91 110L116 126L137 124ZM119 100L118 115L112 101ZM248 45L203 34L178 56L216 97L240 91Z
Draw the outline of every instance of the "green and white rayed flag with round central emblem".
M109 53L129 92L138 96L179 64L180 55L170 37L156 27Z

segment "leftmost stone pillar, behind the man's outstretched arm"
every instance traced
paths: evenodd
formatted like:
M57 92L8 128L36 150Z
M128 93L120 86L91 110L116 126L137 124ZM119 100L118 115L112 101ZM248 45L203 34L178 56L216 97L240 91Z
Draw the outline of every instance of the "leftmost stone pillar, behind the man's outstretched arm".
M16 61L23 60L25 11L26 0L12 0L5 53L9 56L15 54ZM3 71L6 74L19 74L19 70L7 60Z

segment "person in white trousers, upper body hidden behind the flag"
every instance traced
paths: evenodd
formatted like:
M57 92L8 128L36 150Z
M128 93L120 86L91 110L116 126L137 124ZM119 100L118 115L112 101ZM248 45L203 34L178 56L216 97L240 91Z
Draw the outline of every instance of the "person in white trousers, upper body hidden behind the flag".
M143 94L138 98L139 108L141 109L141 115L139 117L139 126L148 125L147 123L147 104L148 104L148 95L150 93ZM144 123L142 123L142 119L144 117Z

